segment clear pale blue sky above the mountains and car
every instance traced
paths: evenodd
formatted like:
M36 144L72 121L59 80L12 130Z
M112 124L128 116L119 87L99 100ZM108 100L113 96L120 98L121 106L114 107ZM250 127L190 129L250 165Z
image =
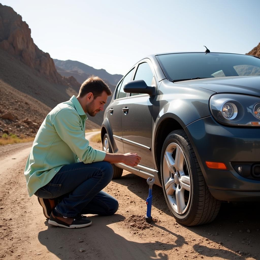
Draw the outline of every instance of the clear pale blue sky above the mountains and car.
M245 54L260 42L259 0L0 0L22 16L54 59L124 75L149 54Z

